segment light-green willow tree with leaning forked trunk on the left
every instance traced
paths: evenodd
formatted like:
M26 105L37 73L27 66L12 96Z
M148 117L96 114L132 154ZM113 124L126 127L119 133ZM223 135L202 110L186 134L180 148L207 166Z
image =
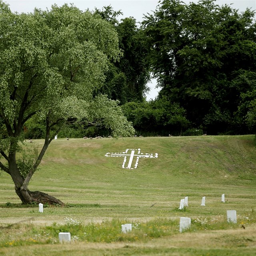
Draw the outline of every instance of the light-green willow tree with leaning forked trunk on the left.
M17 14L0 0L0 168L12 177L23 203L62 204L28 190L28 184L50 142L70 120L104 124L114 136L134 132L117 102L92 96L109 60L119 56L116 31L89 11L65 4ZM22 132L31 118L45 123L38 152L24 152Z

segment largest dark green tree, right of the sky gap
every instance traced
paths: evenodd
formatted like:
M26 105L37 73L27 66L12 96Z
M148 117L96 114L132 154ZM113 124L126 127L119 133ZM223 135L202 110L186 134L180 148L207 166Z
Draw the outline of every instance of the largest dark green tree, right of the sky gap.
M160 98L180 104L192 127L210 134L253 131L254 17L252 10L239 13L213 0L162 0L146 16L143 28Z

